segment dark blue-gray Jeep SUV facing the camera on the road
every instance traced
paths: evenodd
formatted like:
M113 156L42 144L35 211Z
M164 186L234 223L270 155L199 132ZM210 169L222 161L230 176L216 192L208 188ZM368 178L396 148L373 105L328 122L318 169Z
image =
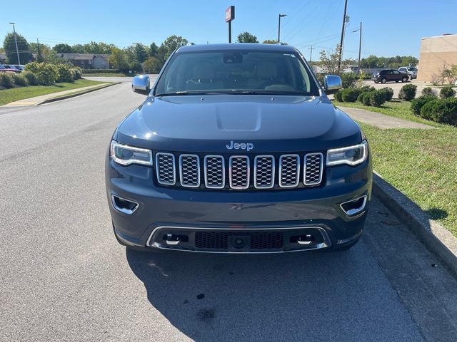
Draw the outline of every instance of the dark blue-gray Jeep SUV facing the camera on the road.
M147 80L149 81L149 80ZM106 191L121 244L150 251L348 249L371 199L361 128L291 46L184 46L116 128Z

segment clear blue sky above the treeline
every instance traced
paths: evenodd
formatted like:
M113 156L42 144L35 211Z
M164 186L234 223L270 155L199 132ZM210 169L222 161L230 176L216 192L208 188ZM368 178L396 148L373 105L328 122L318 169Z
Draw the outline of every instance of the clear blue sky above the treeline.
M29 41L56 43L104 41L125 47L141 42L160 44L167 36L184 36L194 43L223 43L228 39L224 10L236 6L232 35L249 31L276 39L278 14L281 41L296 46L306 58L314 46L331 50L339 42L344 0L281 1L22 1L20 9L0 11L0 38L16 30ZM17 6L16 6L17 7ZM11 7L10 7L11 8ZM348 0L344 56L356 58L358 32L363 22L362 57L418 56L421 37L457 33L457 0Z

